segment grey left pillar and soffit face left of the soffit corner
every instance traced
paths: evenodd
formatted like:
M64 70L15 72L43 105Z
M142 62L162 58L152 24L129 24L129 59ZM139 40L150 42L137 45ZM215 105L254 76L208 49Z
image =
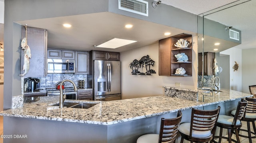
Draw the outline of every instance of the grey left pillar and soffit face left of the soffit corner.
M4 4L4 110L21 94L21 25L16 21L106 12L108 0L6 0ZM7 48L8 47L8 48Z

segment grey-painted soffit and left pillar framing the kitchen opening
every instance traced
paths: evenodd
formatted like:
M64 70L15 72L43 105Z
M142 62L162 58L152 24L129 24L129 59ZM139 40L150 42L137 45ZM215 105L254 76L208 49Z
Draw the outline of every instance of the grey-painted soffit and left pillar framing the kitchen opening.
M21 94L21 79L18 76L21 69L21 25L14 22L109 11L196 32L196 15L164 4L154 9L151 6L152 2L153 0L148 0L149 16L146 17L118 10L117 0L6 0L4 47L8 48L4 50L4 110L11 108L12 96Z

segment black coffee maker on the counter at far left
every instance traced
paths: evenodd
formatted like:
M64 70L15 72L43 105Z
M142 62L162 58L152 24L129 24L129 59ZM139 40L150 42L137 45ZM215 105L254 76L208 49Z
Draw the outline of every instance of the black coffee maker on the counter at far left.
M38 78L27 78L24 80L24 86L26 87L26 92L37 92L40 89L40 79Z

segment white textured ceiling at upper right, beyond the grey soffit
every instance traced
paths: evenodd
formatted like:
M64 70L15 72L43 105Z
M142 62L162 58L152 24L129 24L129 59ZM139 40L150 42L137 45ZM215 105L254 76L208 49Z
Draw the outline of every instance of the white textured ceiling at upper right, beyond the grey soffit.
M207 12L210 20L232 26L242 31L242 44L239 49L256 47L256 0L161 0L181 10L199 15ZM221 8L220 8L221 7ZM214 13L213 10L216 9ZM208 12L212 10L211 12ZM212 13L212 14L211 14Z

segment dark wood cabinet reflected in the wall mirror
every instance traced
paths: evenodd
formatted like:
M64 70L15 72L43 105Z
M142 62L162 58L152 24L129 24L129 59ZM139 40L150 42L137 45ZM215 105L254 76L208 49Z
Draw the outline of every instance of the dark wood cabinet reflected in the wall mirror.
M204 75L214 75L214 57L215 53L206 52L204 56L198 53L198 75L202 75L202 58L204 58Z

